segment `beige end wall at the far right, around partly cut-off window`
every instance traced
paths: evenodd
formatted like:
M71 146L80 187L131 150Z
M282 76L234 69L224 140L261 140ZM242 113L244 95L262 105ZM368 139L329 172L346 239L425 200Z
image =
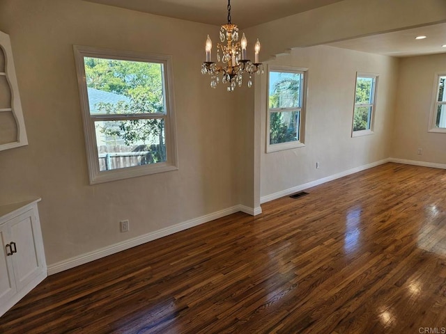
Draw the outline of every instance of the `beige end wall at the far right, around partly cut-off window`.
M446 164L446 134L427 132L438 72L446 54L401 58L392 157Z

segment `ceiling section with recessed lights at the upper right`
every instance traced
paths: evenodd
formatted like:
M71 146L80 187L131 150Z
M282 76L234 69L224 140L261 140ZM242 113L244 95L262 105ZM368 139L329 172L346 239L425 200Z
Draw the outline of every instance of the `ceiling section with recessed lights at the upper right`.
M419 35L425 35L427 38L415 40ZM328 45L395 57L439 54L446 52L446 47L442 47L446 45L446 23L343 40Z

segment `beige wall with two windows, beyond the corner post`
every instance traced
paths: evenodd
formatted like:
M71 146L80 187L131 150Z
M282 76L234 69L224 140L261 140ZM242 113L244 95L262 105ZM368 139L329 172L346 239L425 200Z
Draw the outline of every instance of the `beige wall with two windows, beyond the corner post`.
M305 147L265 153L267 76L262 78L262 197L390 157L397 58L318 46L295 49L269 64L308 68L307 118ZM374 134L352 138L356 72L379 78Z

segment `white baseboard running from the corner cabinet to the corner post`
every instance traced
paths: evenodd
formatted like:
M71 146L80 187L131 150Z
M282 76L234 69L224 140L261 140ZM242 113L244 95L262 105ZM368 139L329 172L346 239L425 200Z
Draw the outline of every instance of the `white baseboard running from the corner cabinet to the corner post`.
M121 241L111 246L99 248L89 253L84 253L82 255L71 257L68 260L63 260L61 262L50 264L47 267L48 275L53 275L54 273L60 273L61 271L65 271L80 266L81 264L86 264L88 262L98 260L102 257L106 257L108 255L121 252L122 250L126 250L128 248L145 244L148 241L153 241L155 239L166 237L169 234L174 234L176 232L187 230L188 228L193 228L194 226L201 225L203 223L208 223L209 221L213 221L214 219L222 218L224 216L228 216L229 214L235 214L236 212L240 211L245 212L247 214L251 214L252 216L255 216L256 214L261 214L260 207L254 209L252 207L246 207L245 205L235 205L233 207L229 207L228 209L223 209L217 212L213 212L212 214L206 214L205 216L190 219L189 221L184 221L183 223L178 223L176 225L169 226L168 228L162 228L161 230L157 230L151 233L140 235L139 237L134 237L132 239Z

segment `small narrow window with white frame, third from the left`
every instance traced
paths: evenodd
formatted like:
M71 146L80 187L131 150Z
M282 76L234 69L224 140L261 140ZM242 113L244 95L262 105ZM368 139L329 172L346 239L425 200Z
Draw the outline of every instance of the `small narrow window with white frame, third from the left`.
M357 73L352 136L373 134L378 75Z

